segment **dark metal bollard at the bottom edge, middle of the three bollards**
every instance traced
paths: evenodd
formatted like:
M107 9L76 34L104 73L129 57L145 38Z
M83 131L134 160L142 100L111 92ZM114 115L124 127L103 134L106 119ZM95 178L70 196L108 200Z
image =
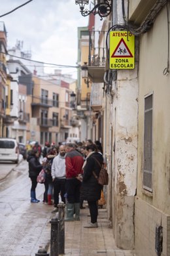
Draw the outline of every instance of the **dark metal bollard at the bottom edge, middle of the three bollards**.
M50 240L50 256L58 256L58 217L52 218L51 223L51 240Z

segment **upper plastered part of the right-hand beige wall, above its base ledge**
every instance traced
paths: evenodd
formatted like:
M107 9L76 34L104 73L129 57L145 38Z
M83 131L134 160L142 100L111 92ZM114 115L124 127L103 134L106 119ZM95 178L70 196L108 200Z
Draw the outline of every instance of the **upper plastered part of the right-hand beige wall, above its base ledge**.
M169 76L163 75L167 66L167 29L165 9L156 20L150 32L141 36L139 64L139 163L137 194L143 198L143 134L144 96L153 93L153 198L155 207L170 214L169 209L169 156L170 122L167 112L170 108ZM162 39L165 42L162 45ZM163 48L163 49L162 49ZM159 57L158 57L159 56ZM165 188L165 189L162 189ZM159 192L158 192L159 191Z

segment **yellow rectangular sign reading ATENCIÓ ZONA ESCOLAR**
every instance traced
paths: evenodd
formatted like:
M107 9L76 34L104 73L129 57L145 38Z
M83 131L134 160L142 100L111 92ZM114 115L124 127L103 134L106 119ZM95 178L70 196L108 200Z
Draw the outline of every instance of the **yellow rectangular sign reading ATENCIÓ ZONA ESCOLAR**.
M127 31L110 32L110 69L135 68L135 36Z

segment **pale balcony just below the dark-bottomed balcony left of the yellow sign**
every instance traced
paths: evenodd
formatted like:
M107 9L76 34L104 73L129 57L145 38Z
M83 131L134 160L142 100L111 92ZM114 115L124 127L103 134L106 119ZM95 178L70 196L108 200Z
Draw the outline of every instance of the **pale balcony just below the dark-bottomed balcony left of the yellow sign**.
M103 107L103 83L93 83L90 106L94 112Z

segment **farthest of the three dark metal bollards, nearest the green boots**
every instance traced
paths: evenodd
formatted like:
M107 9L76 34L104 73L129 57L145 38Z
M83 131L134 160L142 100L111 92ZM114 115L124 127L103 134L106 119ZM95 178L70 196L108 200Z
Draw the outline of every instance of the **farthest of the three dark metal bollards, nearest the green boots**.
M59 219L59 228L58 228L58 253L64 254L65 249L65 203L60 202L58 204L58 219Z

